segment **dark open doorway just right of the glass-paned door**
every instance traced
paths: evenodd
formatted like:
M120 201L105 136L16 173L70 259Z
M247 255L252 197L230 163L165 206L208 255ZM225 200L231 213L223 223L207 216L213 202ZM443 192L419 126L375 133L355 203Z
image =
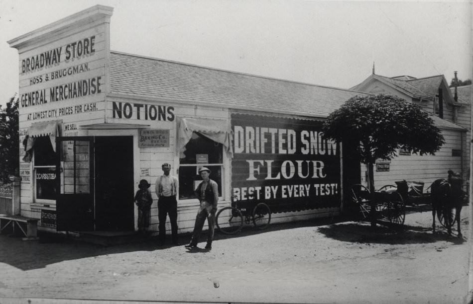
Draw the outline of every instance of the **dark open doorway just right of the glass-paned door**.
M95 137L95 230L134 229L133 137Z

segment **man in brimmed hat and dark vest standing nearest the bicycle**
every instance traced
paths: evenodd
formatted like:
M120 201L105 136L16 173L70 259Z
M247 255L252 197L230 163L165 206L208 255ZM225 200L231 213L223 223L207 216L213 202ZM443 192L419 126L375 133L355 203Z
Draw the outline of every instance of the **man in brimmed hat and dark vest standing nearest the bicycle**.
M199 199L200 207L197 212L191 242L186 245L186 247L197 247L205 219L207 219L207 223L209 224L209 233L207 235L207 245L205 246L205 249L210 250L212 249L212 240L214 239L215 213L217 212L217 203L219 202L219 189L217 182L210 179L209 168L201 168L199 174L203 181L197 186L194 193Z

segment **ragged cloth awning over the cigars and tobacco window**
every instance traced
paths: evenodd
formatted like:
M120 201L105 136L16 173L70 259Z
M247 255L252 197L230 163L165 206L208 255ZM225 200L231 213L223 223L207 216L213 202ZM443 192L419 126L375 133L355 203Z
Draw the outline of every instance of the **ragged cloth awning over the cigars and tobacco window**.
M61 122L61 120L54 120L33 123L28 128L28 135L26 135L25 139L23 140L23 147L25 150L25 155L23 157L24 161L31 162L34 139L41 136L49 136L53 151L56 152L56 136L60 136L59 126Z

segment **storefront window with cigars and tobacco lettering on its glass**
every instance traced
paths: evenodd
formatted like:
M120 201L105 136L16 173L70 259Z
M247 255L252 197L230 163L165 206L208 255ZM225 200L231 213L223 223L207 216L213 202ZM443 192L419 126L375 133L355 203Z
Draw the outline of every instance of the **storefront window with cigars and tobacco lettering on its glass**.
M49 136L34 140L33 171L36 200L56 199L56 152Z

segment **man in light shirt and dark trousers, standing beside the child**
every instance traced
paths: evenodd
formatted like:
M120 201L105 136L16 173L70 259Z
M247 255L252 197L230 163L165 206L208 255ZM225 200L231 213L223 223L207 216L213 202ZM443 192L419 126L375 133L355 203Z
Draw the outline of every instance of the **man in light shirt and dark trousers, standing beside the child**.
M172 243L179 245L177 240L177 200L176 194L179 187L177 178L169 172L171 165L163 163L164 174L156 179L156 195L158 196L158 219L159 219L159 246L164 244L166 238L166 215L169 214L171 222Z

